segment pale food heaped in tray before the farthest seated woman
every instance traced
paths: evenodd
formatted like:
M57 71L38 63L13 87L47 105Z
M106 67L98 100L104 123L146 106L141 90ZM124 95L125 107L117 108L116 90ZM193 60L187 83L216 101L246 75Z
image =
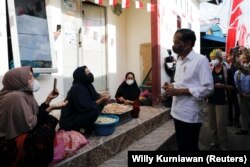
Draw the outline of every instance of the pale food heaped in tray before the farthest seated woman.
M104 106L102 113L108 114L122 114L128 111L131 111L133 107L131 105L110 103Z

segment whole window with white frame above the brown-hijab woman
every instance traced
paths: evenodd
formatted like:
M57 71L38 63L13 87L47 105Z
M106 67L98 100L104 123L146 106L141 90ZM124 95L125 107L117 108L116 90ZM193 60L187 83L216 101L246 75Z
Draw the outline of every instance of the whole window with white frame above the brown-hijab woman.
M7 20L10 25L13 23L16 25L14 28L9 27L12 45L8 45L8 50L13 52L13 60L9 61L13 61L14 66L29 65L34 69L47 69L45 71L52 72L45 0L11 0L7 5L9 9Z

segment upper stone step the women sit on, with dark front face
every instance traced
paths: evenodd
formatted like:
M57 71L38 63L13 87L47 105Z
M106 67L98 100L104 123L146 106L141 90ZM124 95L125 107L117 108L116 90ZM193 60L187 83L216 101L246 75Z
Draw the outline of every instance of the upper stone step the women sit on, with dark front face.
M57 167L96 167L128 148L170 119L170 109L141 106L140 117L116 127L110 136L91 136L77 153L56 164Z

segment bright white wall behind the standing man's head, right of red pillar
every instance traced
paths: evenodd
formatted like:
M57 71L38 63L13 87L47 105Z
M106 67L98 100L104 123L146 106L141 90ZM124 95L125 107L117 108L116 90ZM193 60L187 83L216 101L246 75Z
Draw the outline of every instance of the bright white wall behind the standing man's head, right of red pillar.
M177 3L176 3L177 2ZM181 2L183 4L181 4ZM187 9L187 6L189 9ZM191 23L191 29L196 35L196 44L194 50L200 52L200 23L199 23L199 2L197 0L160 0L160 49L161 49L161 85L169 82L170 78L164 70L164 58L168 56L167 49L172 50L173 36L177 30L177 14L181 17L181 28L188 28ZM172 55L176 55L172 51ZM163 92L163 90L162 90Z

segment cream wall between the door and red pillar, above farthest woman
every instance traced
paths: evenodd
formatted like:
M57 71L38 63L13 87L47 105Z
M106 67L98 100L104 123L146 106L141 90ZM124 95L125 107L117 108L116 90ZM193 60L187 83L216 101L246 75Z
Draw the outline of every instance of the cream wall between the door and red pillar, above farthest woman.
M143 2L149 2L149 0ZM127 71L134 72L137 83L141 84L140 44L151 43L151 13L147 12L146 4L142 9L136 9L134 5L131 3L131 7L126 9ZM124 76L125 74L123 78Z

